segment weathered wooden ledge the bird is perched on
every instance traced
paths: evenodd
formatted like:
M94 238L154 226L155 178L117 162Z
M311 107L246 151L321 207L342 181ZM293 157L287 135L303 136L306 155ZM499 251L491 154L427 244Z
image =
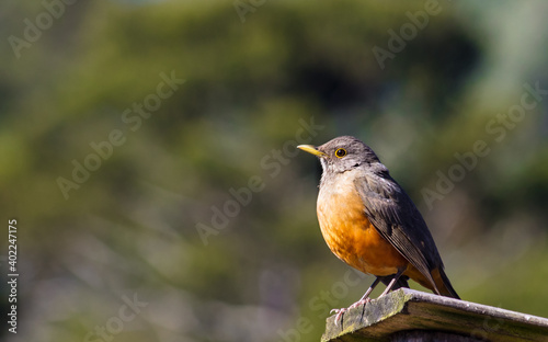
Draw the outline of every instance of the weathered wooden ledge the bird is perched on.
M328 318L322 342L548 341L548 319L401 288Z

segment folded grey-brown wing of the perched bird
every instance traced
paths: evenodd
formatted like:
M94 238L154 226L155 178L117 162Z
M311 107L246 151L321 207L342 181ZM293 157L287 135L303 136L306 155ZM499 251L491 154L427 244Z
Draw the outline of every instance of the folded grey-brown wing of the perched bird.
M373 226L437 289L431 271L443 267L442 258L426 223L403 189L387 172L357 178L354 184Z

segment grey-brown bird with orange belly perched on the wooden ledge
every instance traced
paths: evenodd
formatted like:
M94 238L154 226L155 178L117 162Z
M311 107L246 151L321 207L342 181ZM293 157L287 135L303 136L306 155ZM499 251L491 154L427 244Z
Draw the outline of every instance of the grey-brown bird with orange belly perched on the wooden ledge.
M387 287L379 297L409 287L411 278L437 295L460 299L424 218L369 146L341 136L297 148L318 157L322 167L317 215L329 249L376 277L359 300L331 310L335 324L346 310L369 303L380 282Z

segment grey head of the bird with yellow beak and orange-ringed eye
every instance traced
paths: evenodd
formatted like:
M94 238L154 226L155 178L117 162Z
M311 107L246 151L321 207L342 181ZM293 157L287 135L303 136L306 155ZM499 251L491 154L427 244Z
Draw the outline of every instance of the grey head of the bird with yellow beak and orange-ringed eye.
M342 173L357 167L387 171L370 147L351 136L336 137L318 147L299 145L298 148L320 158L324 173Z

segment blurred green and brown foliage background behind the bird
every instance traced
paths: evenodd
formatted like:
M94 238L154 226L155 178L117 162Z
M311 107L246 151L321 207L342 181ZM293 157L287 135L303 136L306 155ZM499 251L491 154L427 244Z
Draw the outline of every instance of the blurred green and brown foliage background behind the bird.
M0 7L0 339L318 341L373 281L294 149L340 135L464 299L548 317L547 2L66 1Z

